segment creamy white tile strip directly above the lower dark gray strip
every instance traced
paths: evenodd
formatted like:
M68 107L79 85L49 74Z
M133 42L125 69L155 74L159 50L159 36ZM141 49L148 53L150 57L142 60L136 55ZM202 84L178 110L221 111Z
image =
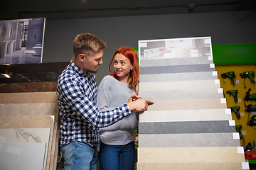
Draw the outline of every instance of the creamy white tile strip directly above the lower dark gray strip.
M198 110L145 111L144 113L139 114L140 123L205 120L232 120L231 111L229 108L220 108Z

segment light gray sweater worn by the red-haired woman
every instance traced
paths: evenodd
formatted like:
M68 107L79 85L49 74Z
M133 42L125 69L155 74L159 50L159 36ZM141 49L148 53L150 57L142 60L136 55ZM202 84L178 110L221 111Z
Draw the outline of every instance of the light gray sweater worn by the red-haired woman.
M110 110L127 103L129 96L134 94L134 86L106 76L97 88L97 108L100 111ZM132 111L130 115L119 120L108 127L100 128L100 140L108 145L125 145L132 142L133 130L137 128L137 112Z

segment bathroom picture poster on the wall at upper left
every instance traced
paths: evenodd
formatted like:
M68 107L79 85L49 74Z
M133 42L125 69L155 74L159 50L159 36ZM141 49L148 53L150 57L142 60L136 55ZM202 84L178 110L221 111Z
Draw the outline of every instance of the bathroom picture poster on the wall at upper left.
M46 18L0 21L0 64L40 63Z

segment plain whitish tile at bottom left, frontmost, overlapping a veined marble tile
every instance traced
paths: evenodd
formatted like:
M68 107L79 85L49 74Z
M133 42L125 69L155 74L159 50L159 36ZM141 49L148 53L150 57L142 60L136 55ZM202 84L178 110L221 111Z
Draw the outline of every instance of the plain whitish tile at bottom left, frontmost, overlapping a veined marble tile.
M46 143L0 143L0 169L41 170Z

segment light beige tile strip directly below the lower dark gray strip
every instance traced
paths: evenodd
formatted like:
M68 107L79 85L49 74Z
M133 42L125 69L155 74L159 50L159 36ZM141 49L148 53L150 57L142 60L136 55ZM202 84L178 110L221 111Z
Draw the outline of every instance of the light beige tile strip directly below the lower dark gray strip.
M139 134L139 147L240 147L240 139L234 139L234 134Z

